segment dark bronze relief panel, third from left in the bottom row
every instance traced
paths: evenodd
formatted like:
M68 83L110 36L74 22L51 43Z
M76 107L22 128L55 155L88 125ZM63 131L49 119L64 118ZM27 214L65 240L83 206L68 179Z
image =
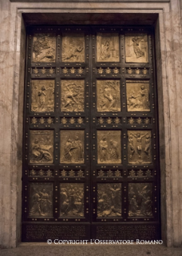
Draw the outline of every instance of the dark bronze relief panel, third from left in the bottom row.
M121 217L121 183L97 185L97 217Z

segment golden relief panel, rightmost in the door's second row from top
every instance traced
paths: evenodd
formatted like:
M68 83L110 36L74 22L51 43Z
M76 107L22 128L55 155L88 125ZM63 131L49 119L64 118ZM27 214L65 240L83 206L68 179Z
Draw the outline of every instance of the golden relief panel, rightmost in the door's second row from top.
M149 112L149 83L142 81L127 81L127 108L129 112Z

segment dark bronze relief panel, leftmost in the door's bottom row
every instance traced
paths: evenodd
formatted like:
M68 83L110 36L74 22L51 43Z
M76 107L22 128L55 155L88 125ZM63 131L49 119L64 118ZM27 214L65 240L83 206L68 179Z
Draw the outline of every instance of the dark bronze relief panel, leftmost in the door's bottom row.
M53 215L53 185L30 184L30 216L45 217Z

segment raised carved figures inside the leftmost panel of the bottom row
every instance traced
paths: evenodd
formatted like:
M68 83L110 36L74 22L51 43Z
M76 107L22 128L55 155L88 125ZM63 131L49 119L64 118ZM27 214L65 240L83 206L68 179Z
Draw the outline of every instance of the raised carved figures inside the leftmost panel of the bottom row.
M34 188L36 191L33 194L32 207L30 209L30 216L49 216L51 215L52 202L49 200L49 193L46 189Z

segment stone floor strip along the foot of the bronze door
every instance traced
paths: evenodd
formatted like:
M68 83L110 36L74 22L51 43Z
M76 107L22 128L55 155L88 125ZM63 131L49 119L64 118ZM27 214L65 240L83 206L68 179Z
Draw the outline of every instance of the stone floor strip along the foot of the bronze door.
M47 245L22 243L15 249L0 249L1 256L182 256L182 247L160 245Z

